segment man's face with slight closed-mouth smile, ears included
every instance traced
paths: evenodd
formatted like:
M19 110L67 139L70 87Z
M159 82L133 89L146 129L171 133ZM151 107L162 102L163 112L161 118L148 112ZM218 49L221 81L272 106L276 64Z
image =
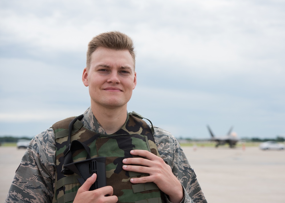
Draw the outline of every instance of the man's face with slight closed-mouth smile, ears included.
M92 53L82 81L89 86L91 107L126 107L137 84L133 58L128 50L99 47Z

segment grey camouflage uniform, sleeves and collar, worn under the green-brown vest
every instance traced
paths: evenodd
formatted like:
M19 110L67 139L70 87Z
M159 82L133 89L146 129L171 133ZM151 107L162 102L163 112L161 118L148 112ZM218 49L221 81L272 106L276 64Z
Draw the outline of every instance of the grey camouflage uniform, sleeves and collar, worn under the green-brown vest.
M90 107L84 112L82 123L89 130L107 134ZM154 127L154 140L160 157L170 165L184 188L182 202L206 203L196 175L174 136L166 130ZM56 171L55 151L52 128L32 139L16 171L6 202L52 202ZM166 202L169 202L167 197Z

